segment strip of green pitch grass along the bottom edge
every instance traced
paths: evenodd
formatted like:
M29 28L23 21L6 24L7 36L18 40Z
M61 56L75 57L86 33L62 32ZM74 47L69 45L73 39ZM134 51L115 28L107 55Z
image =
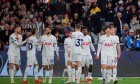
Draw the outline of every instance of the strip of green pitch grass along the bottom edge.
M39 79L42 80L43 78L40 77ZM22 84L22 80L23 78L16 77L15 84ZM33 77L30 77L27 80L29 82L28 84L35 84ZM62 78L53 78L52 81L53 81L52 84L64 84L62 83ZM10 78L0 77L0 84L10 84ZM47 78L46 84L48 84L48 78ZM86 82L85 84L88 84L88 83ZM92 84L102 84L102 80L99 80L98 78L93 78ZM112 81L111 81L111 84L113 84ZM118 84L140 84L140 78L118 78Z

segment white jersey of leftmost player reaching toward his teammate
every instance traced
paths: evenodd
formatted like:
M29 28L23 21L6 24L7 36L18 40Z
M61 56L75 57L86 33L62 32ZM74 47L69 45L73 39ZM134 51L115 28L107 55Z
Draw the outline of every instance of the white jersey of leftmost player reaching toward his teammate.
M16 54L20 55L20 47L26 43L26 41L22 41L22 36L18 34L19 39L16 39L16 35L13 33L9 37L9 49L7 54Z

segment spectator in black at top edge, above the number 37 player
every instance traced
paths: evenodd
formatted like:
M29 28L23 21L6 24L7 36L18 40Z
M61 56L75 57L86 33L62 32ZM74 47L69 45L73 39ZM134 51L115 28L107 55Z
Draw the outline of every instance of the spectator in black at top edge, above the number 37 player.
M73 0L73 3L70 5L71 15L77 13L79 16L82 15L82 4L78 2L78 0Z

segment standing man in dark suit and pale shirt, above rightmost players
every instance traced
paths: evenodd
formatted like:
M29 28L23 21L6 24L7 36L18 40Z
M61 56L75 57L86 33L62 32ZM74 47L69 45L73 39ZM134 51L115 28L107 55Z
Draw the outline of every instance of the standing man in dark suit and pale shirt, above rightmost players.
M121 30L123 27L123 21L121 20L121 17L122 17L121 12L118 12L117 17L114 18L114 25L117 27L117 33L119 34L119 36L121 34Z

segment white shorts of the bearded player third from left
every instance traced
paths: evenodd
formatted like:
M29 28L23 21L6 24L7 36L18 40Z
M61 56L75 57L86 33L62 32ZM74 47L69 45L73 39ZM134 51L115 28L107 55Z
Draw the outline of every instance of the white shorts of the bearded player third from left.
M54 56L42 56L42 65L54 65Z

